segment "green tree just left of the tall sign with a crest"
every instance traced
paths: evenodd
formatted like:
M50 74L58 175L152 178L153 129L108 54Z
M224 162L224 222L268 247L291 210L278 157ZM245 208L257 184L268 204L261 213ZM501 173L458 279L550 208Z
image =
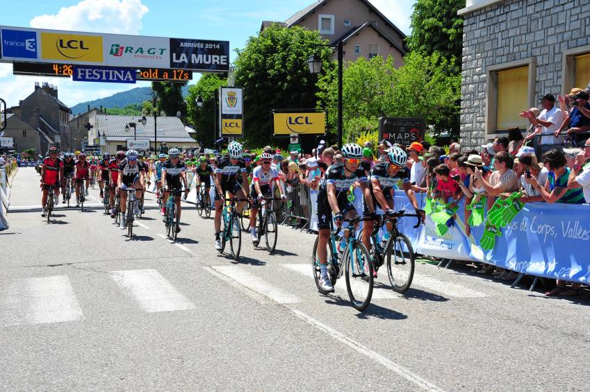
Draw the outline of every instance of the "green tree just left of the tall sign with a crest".
M217 139L218 126L215 118L215 92L219 87L227 85L227 79L220 78L218 74L203 74L195 85L188 87L187 108L188 121L195 127L197 141L204 146L213 148L213 142ZM197 106L197 98L203 99L201 108Z

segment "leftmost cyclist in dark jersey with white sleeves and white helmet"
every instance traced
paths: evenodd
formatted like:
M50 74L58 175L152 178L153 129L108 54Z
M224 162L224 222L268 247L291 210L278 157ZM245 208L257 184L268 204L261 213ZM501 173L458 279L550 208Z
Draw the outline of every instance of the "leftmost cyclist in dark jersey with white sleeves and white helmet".
M127 225L127 216L125 214L127 210L127 192L122 190L127 189L127 187L135 189L136 203L133 206L133 212L138 214L138 203L141 198L141 191L144 188L145 183L145 178L143 176L145 166L141 162L138 162L138 152L135 150L129 150L125 156L126 158L122 160L119 167L119 176L117 178L117 190L121 195L121 203L119 206L121 209L121 223L119 228L121 230L124 230Z

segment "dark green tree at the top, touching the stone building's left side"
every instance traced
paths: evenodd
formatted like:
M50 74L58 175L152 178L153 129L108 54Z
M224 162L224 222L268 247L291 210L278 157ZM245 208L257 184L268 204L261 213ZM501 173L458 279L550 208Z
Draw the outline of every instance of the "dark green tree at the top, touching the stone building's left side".
M457 11L466 0L417 0L411 16L412 33L407 38L412 51L439 53L454 58L455 73L461 71L463 50L463 19Z

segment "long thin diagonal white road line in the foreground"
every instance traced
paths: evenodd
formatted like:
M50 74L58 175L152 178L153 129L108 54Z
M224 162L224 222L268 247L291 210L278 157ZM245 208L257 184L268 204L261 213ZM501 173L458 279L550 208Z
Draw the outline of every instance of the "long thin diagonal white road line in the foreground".
M318 330L336 339L337 341L344 343L346 346L349 346L353 350L360 352L362 355L365 355L373 361L376 361L378 364L381 364L389 370L393 371L394 373L397 373L398 375L400 375L400 377L403 377L405 380L408 380L409 382L415 384L421 389L425 391L443 391L438 386L424 380L422 377L416 375L415 373L412 373L411 370L396 364L395 362L391 361L390 359L387 359L383 355L380 355L379 353L373 350L370 350L370 348L363 346L361 343L354 341L353 339L350 339L350 337L341 334L341 332L334 330L333 328L325 325L324 323L321 323L320 321L317 321L315 318L312 318L311 316L308 316L307 314L304 314L303 312L300 312L297 309L290 309L290 312L295 314L295 316L305 321L306 323L313 325Z

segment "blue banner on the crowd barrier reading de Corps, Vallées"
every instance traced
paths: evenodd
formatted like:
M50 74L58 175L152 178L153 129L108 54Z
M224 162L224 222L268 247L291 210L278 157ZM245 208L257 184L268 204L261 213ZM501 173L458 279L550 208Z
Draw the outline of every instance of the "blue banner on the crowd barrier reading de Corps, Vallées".
M416 195L421 205L425 195ZM403 191L395 191L395 210L413 210ZM513 221L500 228L490 250L481 246L484 225L465 228L464 203L445 235L436 233L427 218L420 229L405 218L400 231L407 235L416 252L434 257L471 260L493 264L518 273L543 278L590 282L590 206L528 203ZM489 247L489 246L487 246Z

